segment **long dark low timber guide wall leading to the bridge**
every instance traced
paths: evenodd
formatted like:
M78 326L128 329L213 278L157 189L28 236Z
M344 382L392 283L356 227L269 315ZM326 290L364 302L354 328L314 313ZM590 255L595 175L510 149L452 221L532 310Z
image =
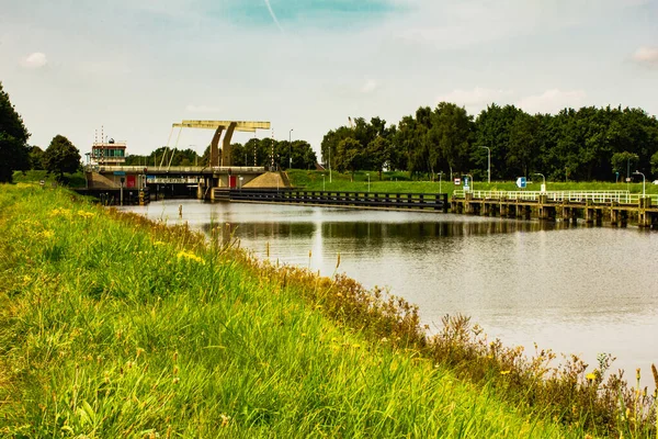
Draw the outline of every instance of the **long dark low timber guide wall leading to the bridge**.
M432 210L447 212L445 193L387 193L349 191L303 191L295 189L213 189L214 200L309 204L325 206Z

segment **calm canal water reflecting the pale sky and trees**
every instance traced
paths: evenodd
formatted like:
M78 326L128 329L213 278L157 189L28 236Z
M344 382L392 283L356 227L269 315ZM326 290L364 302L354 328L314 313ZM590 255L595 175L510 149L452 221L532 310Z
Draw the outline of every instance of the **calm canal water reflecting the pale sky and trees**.
M182 205L182 217L179 217ZM258 257L340 272L419 306L432 330L464 314L506 346L658 364L658 233L465 215L172 200L124 210L219 227ZM310 257L309 257L310 251ZM559 357L558 357L559 359ZM590 369L591 369L590 368Z

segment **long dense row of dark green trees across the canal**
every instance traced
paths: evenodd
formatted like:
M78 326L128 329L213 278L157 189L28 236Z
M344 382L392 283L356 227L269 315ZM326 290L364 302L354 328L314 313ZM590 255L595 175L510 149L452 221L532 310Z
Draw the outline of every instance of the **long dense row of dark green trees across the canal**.
M329 131L322 161L339 171L409 171L416 178L470 173L515 180L542 173L554 181L615 181L639 170L658 175L658 121L642 109L583 106L531 115L492 103L477 116L441 102L398 123L350 119Z

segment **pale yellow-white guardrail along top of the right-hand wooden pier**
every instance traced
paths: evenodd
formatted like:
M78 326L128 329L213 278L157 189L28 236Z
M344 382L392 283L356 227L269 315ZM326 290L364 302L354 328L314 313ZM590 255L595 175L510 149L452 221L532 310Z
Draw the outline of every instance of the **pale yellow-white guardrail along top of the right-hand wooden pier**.
M546 196L549 202L586 202L637 204L643 198L650 198L651 204L658 203L658 195L644 195L628 191L464 191L453 192L453 198L464 199L466 193L474 200L507 200L507 201L537 201L541 195Z

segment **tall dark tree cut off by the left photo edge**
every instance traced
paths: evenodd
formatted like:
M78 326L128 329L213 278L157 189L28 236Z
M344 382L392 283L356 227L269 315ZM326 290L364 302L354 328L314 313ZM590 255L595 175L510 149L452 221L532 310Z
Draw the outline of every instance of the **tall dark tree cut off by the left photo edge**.
M0 82L0 182L11 182L14 170L30 167L30 133Z

